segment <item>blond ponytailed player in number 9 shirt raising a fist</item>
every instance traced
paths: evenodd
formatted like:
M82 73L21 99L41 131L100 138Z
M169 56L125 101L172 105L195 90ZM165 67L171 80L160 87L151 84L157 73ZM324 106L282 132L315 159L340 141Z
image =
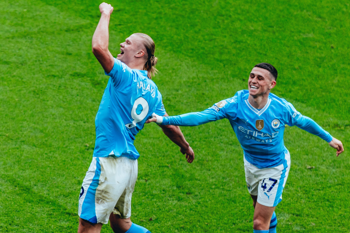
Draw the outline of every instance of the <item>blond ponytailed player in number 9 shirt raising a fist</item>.
M93 159L83 180L79 197L78 232L101 231L110 225L116 233L149 233L131 222L131 196L137 179L140 154L134 146L136 134L155 112L168 116L162 95L151 80L156 72L155 45L146 34L135 33L120 44L113 58L108 50L110 4L100 6L101 18L92 37L92 52L110 76L98 109ZM161 126L163 132L186 154L194 153L178 126Z

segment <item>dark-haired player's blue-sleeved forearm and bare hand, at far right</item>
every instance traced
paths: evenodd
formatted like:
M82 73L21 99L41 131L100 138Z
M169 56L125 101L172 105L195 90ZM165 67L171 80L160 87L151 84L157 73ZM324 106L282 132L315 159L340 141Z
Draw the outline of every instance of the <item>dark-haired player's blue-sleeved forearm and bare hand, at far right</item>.
M296 124L300 129L306 130L309 133L315 134L323 140L327 141L328 144L337 150L337 156L344 151L344 147L341 141L332 137L327 131L322 129L313 119L307 116L301 116L298 118Z

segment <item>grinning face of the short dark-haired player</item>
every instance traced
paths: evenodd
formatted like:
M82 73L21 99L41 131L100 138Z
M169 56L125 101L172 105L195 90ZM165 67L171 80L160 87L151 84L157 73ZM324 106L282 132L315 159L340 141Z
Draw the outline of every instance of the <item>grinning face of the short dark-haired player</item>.
M248 79L249 94L253 97L270 93L276 81L268 70L254 67Z

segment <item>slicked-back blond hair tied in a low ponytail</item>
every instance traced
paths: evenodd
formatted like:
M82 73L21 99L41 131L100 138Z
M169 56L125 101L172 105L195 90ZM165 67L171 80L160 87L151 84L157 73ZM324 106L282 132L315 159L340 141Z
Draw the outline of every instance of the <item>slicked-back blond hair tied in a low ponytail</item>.
M148 72L147 76L149 79L152 78L157 73L157 69L154 67L157 64L158 58L154 56L155 51L155 44L153 42L153 39L149 37L146 34L143 33L135 33L135 36L139 36L142 39L142 43L144 44L147 54L146 56L146 63L144 65L144 70Z

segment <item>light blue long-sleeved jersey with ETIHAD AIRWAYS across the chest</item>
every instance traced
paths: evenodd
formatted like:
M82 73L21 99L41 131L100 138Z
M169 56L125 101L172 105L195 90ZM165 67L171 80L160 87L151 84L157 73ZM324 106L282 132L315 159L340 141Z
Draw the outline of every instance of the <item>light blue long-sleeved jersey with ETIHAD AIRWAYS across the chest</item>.
M332 136L309 117L296 111L285 99L270 93L264 108L255 109L248 101L248 90L220 101L202 112L163 117L162 125L195 126L228 118L244 150L245 159L258 168L275 167L283 163L285 124L315 134L327 142Z

